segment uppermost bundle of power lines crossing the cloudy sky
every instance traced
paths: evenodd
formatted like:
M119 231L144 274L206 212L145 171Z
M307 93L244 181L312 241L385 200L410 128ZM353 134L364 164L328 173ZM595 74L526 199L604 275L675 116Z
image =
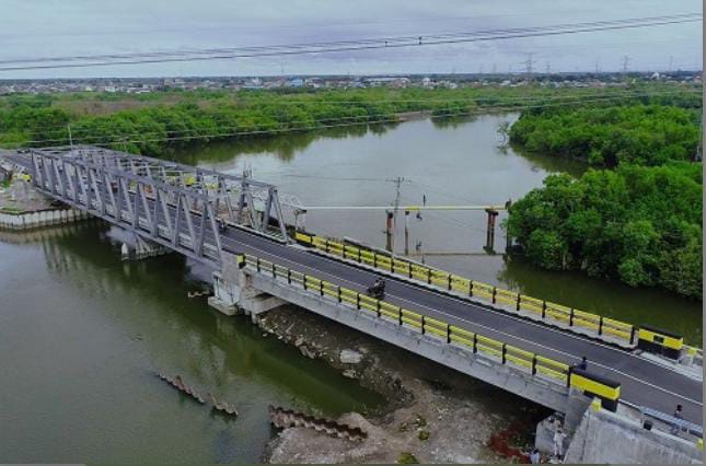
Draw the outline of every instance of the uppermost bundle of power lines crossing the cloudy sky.
M0 60L2 65L13 63L43 63L18 65L2 67L0 71L58 69L58 68L92 68L115 65L163 63L175 61L201 61L233 58L254 58L268 56L287 56L302 54L320 54L335 51L371 50L381 48L402 48L412 46L431 46L441 44L460 44L483 40L498 40L509 38L553 36L564 34L591 33L611 30L626 30L636 27L650 27L668 24L680 24L702 21L701 13L683 13L650 18L634 18L625 20L600 21L588 23L558 24L539 27L505 28L493 31L476 31L461 33L442 33L415 36L379 37L347 40L328 40L302 44L282 44L250 47L213 48L204 50L153 51L135 54L109 55L81 55L48 58L23 58L14 60ZM73 62L85 61L88 62Z

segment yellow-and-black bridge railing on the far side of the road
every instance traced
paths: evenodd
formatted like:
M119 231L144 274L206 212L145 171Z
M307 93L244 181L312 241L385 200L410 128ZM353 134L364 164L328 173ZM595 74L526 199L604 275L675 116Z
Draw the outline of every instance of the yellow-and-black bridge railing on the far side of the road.
M351 245L301 232L296 234L296 240L300 244L378 270L421 281L467 298L479 299L501 311L525 315L624 346L634 346L637 342L637 327L625 322L504 290L360 245Z

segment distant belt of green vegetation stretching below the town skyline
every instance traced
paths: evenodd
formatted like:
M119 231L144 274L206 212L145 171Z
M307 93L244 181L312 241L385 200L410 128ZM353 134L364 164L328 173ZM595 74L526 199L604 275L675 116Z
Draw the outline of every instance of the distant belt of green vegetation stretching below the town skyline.
M0 147L66 145L70 125L73 143L162 156L194 142L394 123L407 112L442 117L526 105L576 105L577 100L595 101L597 96L613 96L617 102L638 98L644 103L692 105L698 96L682 92L688 90L681 85L639 84L606 90L465 86L12 95L0 97Z

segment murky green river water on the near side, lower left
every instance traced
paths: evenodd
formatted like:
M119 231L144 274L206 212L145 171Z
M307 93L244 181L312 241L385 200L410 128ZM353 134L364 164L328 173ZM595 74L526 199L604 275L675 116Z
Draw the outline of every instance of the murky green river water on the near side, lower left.
M246 318L187 299L202 273L177 255L121 263L102 223L20 236L0 242L5 461L257 462L268 404L335 416L381 403ZM213 418L155 371L240 418Z

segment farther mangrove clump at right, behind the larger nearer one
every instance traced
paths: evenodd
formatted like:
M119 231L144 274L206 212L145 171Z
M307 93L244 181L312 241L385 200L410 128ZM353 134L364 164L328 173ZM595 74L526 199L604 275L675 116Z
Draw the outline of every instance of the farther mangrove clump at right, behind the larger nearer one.
M510 141L534 152L587 160L592 166L662 165L692 160L701 108L633 105L552 109L522 115Z

